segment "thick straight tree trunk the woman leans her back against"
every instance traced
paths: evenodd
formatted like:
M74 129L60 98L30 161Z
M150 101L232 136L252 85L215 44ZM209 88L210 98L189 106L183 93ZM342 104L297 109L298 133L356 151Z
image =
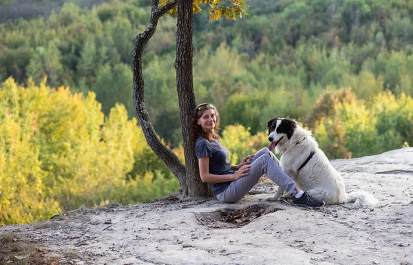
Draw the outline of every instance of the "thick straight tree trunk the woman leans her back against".
M195 145L191 140L189 125L195 109L195 94L192 81L192 0L178 0L178 20L176 31L176 89L180 107L182 136L184 145L187 191L183 195L210 195L208 184L203 183L195 156Z

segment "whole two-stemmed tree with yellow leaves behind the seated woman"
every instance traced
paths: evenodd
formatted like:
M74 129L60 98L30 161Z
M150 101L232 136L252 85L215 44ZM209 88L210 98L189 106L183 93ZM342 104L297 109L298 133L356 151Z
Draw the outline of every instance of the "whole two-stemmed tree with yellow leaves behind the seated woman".
M134 105L136 116L145 138L160 159L171 169L180 183L181 195L205 196L210 195L207 184L202 183L198 161L195 158L195 147L189 134L189 123L192 111L195 109L195 93L193 92L192 78L192 36L193 36L193 12L200 12L200 4L207 3L211 6L210 19L218 20L225 16L226 19L236 19L246 14L243 8L248 7L243 0L230 0L233 6L221 6L221 0L152 0L151 17L149 25L144 32L136 37L132 70L134 72ZM185 165L169 148L162 144L149 119L149 114L144 102L144 81L142 77L142 55L145 45L156 31L158 20L167 12L177 14L176 33L176 89L180 107L182 124L182 136Z

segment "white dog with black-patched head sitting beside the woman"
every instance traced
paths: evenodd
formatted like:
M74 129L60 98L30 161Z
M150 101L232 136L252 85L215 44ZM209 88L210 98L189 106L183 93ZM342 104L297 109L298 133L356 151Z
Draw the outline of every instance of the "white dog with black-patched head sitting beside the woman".
M319 149L311 131L300 127L296 120L275 117L268 120L267 127L271 142L268 149L281 154L280 167L293 178L299 189L308 191L326 204L354 202L353 206L358 207L377 205L377 199L365 191L346 193L343 178ZM279 200L283 193L279 187L277 193L267 200Z

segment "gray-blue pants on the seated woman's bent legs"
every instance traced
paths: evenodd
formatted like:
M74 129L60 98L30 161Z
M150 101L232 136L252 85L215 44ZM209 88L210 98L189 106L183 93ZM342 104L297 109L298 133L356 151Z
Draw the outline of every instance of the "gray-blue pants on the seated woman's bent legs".
M220 202L237 202L253 189L264 173L275 184L282 187L286 193L295 194L297 192L294 180L279 167L279 160L268 148L263 148L255 153L249 174L231 182L222 193L217 195L217 199Z

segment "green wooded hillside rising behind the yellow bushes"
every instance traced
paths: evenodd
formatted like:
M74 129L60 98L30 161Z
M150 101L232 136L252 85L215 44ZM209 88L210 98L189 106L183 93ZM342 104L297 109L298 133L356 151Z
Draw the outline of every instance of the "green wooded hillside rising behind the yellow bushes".
M106 116L116 103L125 105L130 117L135 115L131 52L136 35L147 26L149 1L114 0L100 6L98 1L67 1L61 9L63 1L11 2L10 8L21 12L25 8L20 4L45 14L54 5L59 8L44 18L0 25L0 82L12 76L17 83L32 78L39 84L47 76L50 87L95 92ZM313 120L308 126L316 131L315 125L328 123L331 117L326 114L332 113L329 109L315 113L317 100L340 89L351 89L352 99L357 99L354 105L365 104L367 109L382 92L413 95L410 1L248 3L249 15L236 21L209 21L208 6L194 16L196 100L220 109L222 129L240 124L256 134L264 131L268 118L278 115ZM30 18L23 13L17 17ZM162 18L145 49L143 76L153 125L161 138L178 147L182 136L173 67L175 34L176 20ZM397 125L396 143L379 151L411 143L408 131L413 121L409 123L407 132L402 131L405 125ZM377 132L383 134L382 129ZM348 149L341 158L348 153L366 155L328 138Z

